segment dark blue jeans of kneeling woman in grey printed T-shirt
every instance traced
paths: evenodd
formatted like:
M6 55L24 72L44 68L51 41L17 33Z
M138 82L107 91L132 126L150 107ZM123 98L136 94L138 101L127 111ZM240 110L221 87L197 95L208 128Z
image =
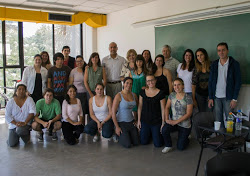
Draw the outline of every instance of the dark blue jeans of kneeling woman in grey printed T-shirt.
M178 131L177 149L184 150L189 144L188 136L191 132L191 129L192 128L183 128L179 125L172 126L166 123L162 128L162 136L165 142L165 146L172 147L172 139L170 133L172 131L177 130Z

